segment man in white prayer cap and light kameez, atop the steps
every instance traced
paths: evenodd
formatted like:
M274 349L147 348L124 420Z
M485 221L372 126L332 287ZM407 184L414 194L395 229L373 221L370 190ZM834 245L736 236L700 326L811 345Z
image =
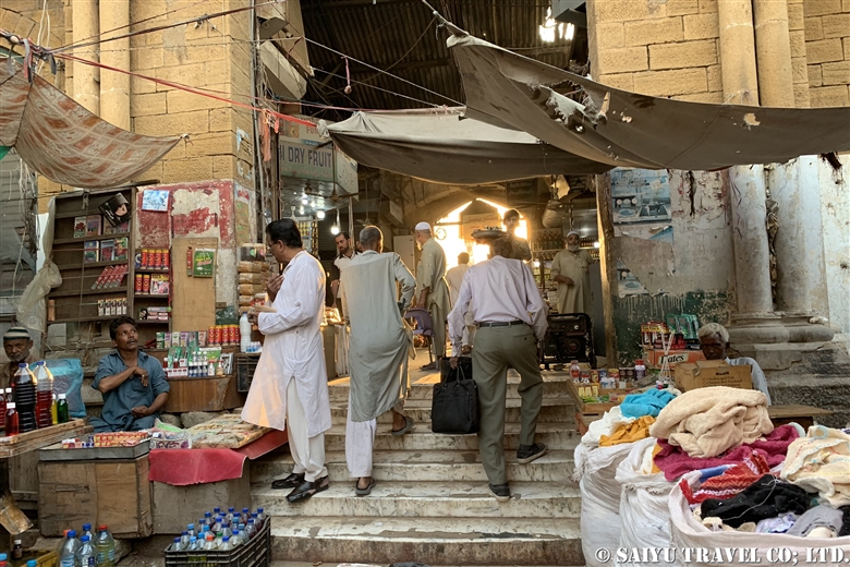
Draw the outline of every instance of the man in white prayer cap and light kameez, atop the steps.
M439 359L446 355L446 317L451 310L449 286L446 284L446 252L432 238L427 222L417 224L414 231L422 249L422 257L416 265L416 306L430 313L436 359L422 370L437 370Z

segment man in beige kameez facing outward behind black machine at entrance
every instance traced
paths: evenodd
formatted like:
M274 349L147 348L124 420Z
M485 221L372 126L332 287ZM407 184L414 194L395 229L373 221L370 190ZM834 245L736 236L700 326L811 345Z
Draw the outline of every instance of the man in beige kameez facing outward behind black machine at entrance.
M579 248L580 234L567 233L567 249L555 255L551 278L558 282L558 313L590 313L591 254Z

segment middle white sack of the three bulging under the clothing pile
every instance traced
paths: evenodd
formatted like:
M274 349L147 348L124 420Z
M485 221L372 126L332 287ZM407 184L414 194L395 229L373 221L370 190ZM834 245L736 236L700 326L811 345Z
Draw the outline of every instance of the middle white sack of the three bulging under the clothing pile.
M672 482L667 482L664 473L644 474L641 471L643 457L653 450L655 437L632 444L629 456L617 467L616 480L620 485L620 548L627 552L642 547L670 547L670 510L667 500ZM640 567L643 560L617 560L621 567ZM678 558L660 556L653 565L682 565Z

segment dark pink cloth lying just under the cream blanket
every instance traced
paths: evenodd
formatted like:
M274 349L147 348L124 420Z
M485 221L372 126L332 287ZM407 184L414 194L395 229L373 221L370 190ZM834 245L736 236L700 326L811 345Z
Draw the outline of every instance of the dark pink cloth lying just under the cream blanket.
M658 446L661 450L655 456L655 465L664 471L664 478L672 482L691 471L711 469L721 465L738 465L757 449L767 460L767 465L773 468L785 461L788 446L797 437L797 429L793 425L780 425L765 435L764 439L741 445L709 459L695 459L684 453L681 447L659 439Z

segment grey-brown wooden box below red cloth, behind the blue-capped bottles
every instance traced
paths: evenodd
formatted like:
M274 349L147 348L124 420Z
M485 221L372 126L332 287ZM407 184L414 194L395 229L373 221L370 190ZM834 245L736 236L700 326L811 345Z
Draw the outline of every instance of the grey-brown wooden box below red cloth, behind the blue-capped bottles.
M204 517L214 506L251 507L251 461L245 459L242 476L221 482L172 486L151 482L154 494L154 533L180 535L187 523Z

